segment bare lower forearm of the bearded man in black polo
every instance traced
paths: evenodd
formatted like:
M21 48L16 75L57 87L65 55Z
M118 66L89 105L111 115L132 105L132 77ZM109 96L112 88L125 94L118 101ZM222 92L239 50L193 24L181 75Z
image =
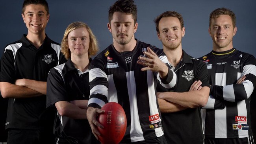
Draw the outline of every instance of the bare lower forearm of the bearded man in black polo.
M206 105L209 92L209 87L202 87L201 90L193 90L189 92L163 92L158 96L158 98L176 103L183 107L195 108Z

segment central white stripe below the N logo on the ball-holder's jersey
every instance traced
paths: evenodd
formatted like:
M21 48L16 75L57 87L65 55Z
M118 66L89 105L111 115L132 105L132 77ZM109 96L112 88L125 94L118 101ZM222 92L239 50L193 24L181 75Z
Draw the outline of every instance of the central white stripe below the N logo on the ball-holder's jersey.
M141 140L145 140L143 137L143 131L141 129L141 125L139 122L139 112L137 106L137 95L136 95L136 85L134 78L134 71L126 72L127 79L127 89L130 101L130 109L131 109L131 141L137 142Z

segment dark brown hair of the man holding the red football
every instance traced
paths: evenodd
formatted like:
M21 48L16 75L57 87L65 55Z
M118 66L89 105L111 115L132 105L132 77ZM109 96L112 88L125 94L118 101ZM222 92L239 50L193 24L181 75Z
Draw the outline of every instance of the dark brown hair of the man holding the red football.
M108 22L113 19L114 12L121 12L126 14L132 14L134 24L137 22L137 6L134 4L134 0L117 0L113 6L108 10Z

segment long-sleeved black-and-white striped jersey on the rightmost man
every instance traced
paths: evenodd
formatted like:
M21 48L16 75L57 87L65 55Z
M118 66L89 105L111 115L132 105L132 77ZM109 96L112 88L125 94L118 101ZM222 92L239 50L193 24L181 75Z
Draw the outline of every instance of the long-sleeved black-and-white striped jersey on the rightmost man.
M202 109L206 138L244 138L252 135L250 96L256 86L256 59L234 48L201 57L208 68L210 98ZM246 79L236 84L241 76ZM218 104L215 105L216 100ZM224 104L220 104L220 101Z

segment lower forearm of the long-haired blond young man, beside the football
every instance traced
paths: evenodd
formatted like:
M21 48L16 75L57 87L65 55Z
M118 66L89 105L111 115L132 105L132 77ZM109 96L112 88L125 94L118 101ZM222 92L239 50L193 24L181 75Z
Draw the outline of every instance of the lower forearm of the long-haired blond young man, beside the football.
M59 101L55 103L55 106L61 116L67 116L74 119L87 119L87 109L82 109L70 102Z

